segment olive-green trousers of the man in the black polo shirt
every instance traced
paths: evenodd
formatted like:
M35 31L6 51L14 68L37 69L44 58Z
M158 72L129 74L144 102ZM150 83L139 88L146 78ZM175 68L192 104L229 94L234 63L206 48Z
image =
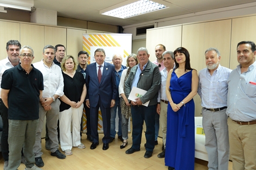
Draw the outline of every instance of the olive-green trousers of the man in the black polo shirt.
M9 120L9 170L16 170L21 164L21 149L27 164L31 168L35 164L33 146L36 140L36 129L39 120Z

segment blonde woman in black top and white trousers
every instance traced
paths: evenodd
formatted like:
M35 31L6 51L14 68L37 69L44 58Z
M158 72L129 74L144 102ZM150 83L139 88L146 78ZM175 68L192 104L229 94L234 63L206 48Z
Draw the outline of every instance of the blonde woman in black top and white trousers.
M76 71L77 67L78 63L72 55L65 56L61 62L64 95L60 97L60 145L66 155L73 154L72 146L85 148L85 145L81 143L80 124L86 86L84 76Z

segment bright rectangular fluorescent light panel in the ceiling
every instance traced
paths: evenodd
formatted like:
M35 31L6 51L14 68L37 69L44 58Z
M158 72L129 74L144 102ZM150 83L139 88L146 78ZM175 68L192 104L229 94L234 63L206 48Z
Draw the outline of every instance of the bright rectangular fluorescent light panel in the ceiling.
M165 8L169 8L169 7L153 1L149 1L149 0L140 0L140 1L133 2L131 4L124 5L110 11L106 11L102 14L124 19L124 18L130 18L130 17L146 14L149 12L153 12L153 11L157 11Z

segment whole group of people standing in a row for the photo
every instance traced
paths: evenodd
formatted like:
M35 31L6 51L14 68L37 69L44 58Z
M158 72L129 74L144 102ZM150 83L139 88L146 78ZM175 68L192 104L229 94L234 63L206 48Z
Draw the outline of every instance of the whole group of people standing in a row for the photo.
M190 66L189 52L183 47L172 52L158 44L157 60L153 62L142 47L137 55L129 55L123 66L120 54L113 55L113 64L105 62L106 53L101 48L94 52L95 62L87 65L86 51L80 51L75 58L65 56L64 45L46 45L43 59L32 64L33 49L10 40L8 56L0 61L4 169L16 170L21 162L25 169L44 166L41 133L45 117L46 149L50 155L65 159L73 154L72 147L85 148L81 143L83 109L90 148L97 148L99 108L104 151L116 137L118 113L121 149L128 145L132 117L132 146L126 154L140 151L145 121L144 158L150 158L158 144L161 122L163 151L158 158L165 158L168 169L194 169L193 97L197 93L202 99L209 169L228 169L229 147L233 169L256 169L255 50L254 42L238 43L239 65L232 71L220 65L219 50L209 48L204 53L207 68L197 75ZM133 87L146 93L130 100ZM148 105L144 106L146 102ZM59 142L65 154L59 151Z

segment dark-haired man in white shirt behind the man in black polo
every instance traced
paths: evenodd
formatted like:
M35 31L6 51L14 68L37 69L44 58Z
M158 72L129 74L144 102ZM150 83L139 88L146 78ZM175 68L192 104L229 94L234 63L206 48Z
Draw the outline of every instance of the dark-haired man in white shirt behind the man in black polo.
M21 43L17 40L10 40L7 42L6 50L7 50L7 58L0 61L0 83L2 82L2 75L5 70L13 68L20 63L20 59L18 55L20 55ZM1 93L1 88L0 88ZM4 159L4 170L8 167L9 160L9 145L8 145L8 108L5 107L2 99L0 98L0 115L3 121L3 131L1 138L1 147L2 147L2 155ZM21 162L25 164L25 157L22 155Z

